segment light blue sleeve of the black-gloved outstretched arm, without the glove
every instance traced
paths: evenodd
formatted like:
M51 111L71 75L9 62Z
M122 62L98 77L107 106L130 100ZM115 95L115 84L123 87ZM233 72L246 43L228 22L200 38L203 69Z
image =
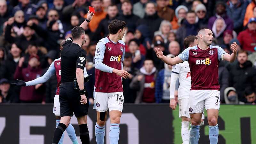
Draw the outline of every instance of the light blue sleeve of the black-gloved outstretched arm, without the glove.
M54 68L54 61L48 68L48 70L44 73L43 76L38 77L32 81L26 82L26 86L36 85L36 84L42 84L45 83L48 79L50 79L55 74L55 68Z

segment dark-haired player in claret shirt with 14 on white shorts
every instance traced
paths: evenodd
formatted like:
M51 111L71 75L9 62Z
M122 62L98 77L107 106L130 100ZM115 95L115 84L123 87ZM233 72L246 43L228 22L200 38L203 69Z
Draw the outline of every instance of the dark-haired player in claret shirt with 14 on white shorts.
M127 78L129 73L123 69L124 36L126 23L113 20L108 25L110 35L101 39L95 52L95 86L94 109L97 110L95 135L97 144L104 143L105 123L107 111L110 117L110 144L117 144L119 139L120 117L123 111L124 95L122 77Z

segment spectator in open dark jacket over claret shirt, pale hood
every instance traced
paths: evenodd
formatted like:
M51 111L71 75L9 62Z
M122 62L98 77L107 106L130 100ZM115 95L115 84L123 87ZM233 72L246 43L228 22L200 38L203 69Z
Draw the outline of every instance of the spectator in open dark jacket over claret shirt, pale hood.
M157 70L152 60L145 60L140 72L132 79L130 88L137 90L135 103L153 103L155 99L155 84Z

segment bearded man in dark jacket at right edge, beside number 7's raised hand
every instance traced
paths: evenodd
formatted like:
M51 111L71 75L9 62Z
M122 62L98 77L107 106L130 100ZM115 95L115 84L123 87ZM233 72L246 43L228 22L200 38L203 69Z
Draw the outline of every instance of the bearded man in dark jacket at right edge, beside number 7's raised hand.
M228 66L229 86L233 86L238 94L238 100L246 102L244 89L247 87L256 87L256 69L252 63L247 60L248 52L240 50L237 54L238 62Z

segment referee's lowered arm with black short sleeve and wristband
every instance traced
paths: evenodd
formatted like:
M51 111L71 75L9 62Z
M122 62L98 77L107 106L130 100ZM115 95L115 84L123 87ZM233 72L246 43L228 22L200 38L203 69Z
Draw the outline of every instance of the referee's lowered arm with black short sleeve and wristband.
M86 63L85 59L86 55L84 50L80 49L78 52L77 60L76 60L76 80L78 87L80 89L80 95L81 95L81 104L87 103L87 98L85 96L85 90L84 90L84 67Z

